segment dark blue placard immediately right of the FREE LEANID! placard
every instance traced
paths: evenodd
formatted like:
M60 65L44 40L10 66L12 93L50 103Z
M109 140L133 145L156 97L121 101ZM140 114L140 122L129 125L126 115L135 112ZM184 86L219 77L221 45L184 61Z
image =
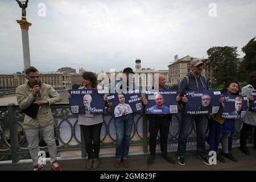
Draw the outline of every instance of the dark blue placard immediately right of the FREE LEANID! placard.
M247 110L246 96L224 96L225 107L221 111L221 118L243 118Z

